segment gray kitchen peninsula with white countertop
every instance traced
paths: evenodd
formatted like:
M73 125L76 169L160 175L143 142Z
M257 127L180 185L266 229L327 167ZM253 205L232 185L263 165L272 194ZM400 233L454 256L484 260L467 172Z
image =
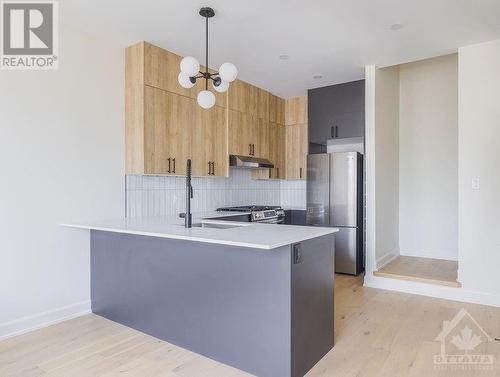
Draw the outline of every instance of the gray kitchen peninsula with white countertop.
M69 225L90 230L92 311L257 376L303 376L333 347L337 229L207 217Z

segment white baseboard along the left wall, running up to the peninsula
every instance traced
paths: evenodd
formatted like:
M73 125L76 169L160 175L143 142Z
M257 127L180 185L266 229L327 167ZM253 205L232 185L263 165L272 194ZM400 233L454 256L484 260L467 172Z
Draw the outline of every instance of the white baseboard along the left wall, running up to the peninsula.
M0 340L91 313L90 300L0 323Z

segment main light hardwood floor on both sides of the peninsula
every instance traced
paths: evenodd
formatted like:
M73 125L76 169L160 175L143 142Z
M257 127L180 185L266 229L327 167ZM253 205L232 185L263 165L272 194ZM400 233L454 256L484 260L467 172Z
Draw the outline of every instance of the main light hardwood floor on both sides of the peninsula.
M335 347L308 377L500 376L500 342L485 344L492 370L435 370L435 337L465 308L491 338L500 338L500 308L362 287L338 275ZM96 315L0 342L0 376L243 377L206 357ZM276 376L279 377L279 376Z

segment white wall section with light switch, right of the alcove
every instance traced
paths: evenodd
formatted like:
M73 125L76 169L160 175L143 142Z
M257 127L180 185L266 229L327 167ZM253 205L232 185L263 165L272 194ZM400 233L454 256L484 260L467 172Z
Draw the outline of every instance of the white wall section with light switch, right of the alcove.
M498 296L500 40L460 48L458 56L459 280Z

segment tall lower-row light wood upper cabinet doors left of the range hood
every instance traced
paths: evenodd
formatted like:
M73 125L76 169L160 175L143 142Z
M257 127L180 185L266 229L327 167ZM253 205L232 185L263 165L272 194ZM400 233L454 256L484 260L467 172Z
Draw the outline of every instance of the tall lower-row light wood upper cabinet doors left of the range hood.
M226 130L224 108L146 86L145 174L185 175L190 158L194 176L227 176Z

